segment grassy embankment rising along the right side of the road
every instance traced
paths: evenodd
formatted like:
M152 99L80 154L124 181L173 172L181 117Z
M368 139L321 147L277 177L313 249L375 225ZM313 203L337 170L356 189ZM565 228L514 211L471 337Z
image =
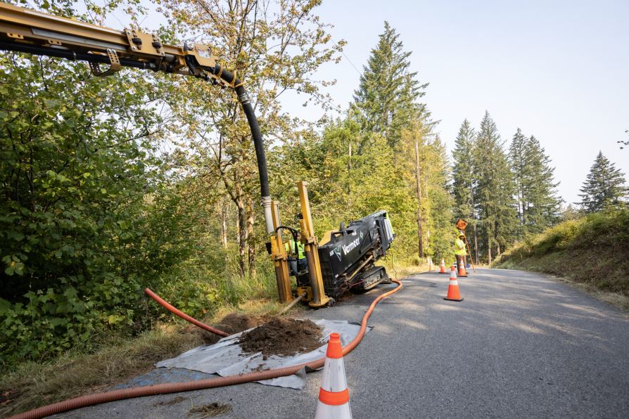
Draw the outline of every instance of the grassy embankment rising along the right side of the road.
M570 278L629 296L629 210L589 214L526 238L493 264Z

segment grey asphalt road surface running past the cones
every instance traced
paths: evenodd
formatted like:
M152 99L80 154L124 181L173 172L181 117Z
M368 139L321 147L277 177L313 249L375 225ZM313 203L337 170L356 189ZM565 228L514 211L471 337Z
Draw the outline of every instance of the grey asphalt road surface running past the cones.
M345 357L354 418L629 417L627 314L564 283L501 269L459 278L464 301L448 302L448 277L412 276L376 307L374 329ZM307 317L360 321L371 300L391 287ZM185 378L148 375L136 382ZM58 417L186 418L192 406L217 402L232 408L222 418L312 418L320 378L310 373L301 391L246 384ZM177 396L185 399L165 404Z

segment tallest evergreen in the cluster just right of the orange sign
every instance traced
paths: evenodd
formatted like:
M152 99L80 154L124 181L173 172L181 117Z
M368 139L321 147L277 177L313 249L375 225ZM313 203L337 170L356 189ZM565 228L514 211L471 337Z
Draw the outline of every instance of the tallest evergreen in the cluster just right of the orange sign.
M474 191L476 211L481 218L479 244L491 263L492 250L500 255L512 243L517 214L511 169L502 149L500 134L489 112L481 122L474 149Z

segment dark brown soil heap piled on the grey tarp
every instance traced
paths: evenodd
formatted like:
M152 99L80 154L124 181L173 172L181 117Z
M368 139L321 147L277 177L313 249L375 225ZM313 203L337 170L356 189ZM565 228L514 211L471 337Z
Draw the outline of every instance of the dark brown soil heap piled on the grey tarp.
M310 352L322 345L321 329L310 320L271 317L257 328L243 333L240 346L244 352L268 355L294 355Z

